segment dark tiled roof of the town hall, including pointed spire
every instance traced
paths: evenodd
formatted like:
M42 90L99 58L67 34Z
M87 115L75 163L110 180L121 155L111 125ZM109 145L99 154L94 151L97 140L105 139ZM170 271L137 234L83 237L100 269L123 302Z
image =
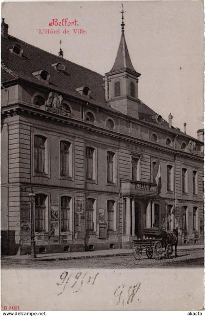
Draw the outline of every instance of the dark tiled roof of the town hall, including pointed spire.
M81 99L87 102L87 98L76 91L76 88L88 86L91 90L90 103L101 106L105 109L118 113L119 116L124 116L121 112L109 106L105 100L103 76L95 71L87 69L76 63L72 63L62 57L46 52L36 46L23 42L13 36L8 35L8 38L1 38L1 83L11 82L17 79L26 80L33 84L40 84L47 89L57 90L62 94ZM21 45L23 49L22 57L12 54L9 49L15 43ZM54 63L63 63L65 70L56 71ZM122 34L117 57L112 67L112 71L120 70L126 67L131 71L135 71L131 63L124 35ZM40 70L46 70L50 74L49 84L38 80L32 73ZM135 73L138 74L136 71ZM168 123L162 119L159 123L153 120L152 116L158 115L150 107L145 105L139 99L136 101L139 105L139 119L143 122L151 124L153 127L164 129L172 132L175 135L182 135L185 138L196 140L181 132L179 129L168 126ZM131 118L135 119L135 118ZM137 120L137 119L136 119Z

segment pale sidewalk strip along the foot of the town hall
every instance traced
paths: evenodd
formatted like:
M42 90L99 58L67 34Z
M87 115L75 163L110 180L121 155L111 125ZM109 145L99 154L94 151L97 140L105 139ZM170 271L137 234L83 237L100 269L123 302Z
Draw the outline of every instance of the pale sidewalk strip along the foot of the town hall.
M174 248L174 247L173 247ZM204 245L191 245L191 246L178 246L177 250L199 250L204 249ZM173 249L174 250L174 249ZM79 259L79 258L93 258L93 257L108 257L128 255L132 253L132 249L108 249L108 250L96 250L88 252L76 252L76 253L39 253L36 259L31 259L29 254L25 255L7 255L2 256L3 260L35 260L35 261L50 261L50 260L66 260L66 259Z

